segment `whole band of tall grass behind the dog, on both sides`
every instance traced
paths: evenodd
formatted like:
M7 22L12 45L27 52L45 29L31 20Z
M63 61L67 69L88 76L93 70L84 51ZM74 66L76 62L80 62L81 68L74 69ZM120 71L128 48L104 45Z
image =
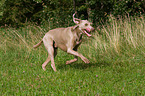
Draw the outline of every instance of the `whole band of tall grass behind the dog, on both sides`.
M115 52L121 54L125 50L140 50L145 55L145 20L143 17L115 19L110 16L110 22L97 29L90 40L90 47L101 53ZM2 50L8 47L32 50L32 46L42 39L46 30L38 26L27 26L21 29L1 29ZM85 45L85 44L84 44Z

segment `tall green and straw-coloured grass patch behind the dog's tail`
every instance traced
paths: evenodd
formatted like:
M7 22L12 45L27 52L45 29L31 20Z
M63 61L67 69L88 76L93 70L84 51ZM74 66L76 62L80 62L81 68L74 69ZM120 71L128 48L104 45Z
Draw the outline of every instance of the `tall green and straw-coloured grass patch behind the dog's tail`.
M0 48L4 51L13 49L31 52L33 45L41 40L44 34L42 28L34 25L21 29L1 29Z

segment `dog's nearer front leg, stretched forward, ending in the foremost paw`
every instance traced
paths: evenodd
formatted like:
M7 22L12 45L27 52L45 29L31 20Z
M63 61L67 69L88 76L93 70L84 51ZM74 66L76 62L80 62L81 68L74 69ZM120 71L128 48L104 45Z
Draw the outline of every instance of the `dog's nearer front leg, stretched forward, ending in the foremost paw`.
M90 63L86 57L70 48L67 50L67 53L80 57L85 63Z

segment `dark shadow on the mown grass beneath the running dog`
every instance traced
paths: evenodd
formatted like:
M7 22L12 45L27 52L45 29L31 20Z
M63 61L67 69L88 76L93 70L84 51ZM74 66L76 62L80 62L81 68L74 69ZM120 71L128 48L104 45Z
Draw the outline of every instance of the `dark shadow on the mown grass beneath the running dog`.
M88 69L88 68L97 68L97 67L106 67L106 66L109 66L110 64L107 63L107 62L91 62L89 64L86 64L84 62L82 63L77 63L77 62L74 62L72 64L59 64L57 65L57 68L58 69L67 69L67 68L73 68L73 69Z

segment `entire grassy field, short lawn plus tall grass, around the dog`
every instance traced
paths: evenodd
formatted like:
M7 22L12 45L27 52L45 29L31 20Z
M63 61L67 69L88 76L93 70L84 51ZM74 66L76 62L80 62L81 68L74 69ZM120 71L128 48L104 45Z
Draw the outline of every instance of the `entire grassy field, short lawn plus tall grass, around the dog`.
M1 96L144 96L145 95L145 19L116 20L96 28L91 38L84 37L81 59L71 65L73 56L59 50L57 72L47 58L44 46L33 49L46 33L45 28L0 29Z

